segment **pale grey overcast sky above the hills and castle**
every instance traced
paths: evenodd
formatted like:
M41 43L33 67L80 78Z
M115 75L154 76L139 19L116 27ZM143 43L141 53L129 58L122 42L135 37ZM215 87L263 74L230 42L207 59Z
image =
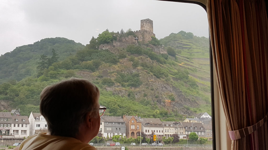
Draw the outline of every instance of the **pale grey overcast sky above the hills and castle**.
M208 37L206 11L198 5L155 0L1 0L0 54L44 38L65 37L83 45L106 30L140 29L151 19L158 39L183 30Z

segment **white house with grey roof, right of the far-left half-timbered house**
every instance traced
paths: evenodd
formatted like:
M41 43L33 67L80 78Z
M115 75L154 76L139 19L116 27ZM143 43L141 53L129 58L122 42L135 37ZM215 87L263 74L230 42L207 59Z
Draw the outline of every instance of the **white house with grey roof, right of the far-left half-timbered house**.
M14 137L28 137L29 133L28 116L12 116L11 133Z

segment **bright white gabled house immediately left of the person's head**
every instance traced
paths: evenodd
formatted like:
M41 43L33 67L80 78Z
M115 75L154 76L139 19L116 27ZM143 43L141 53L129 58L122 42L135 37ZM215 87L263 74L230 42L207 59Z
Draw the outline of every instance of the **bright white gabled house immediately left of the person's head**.
M35 135L38 132L48 132L47 131L47 121L40 113L31 112L29 116L30 123L30 135Z

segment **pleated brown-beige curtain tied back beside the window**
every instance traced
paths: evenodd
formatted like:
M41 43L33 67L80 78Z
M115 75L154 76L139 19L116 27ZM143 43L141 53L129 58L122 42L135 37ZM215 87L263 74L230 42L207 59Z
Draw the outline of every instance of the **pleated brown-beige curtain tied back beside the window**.
M210 40L230 149L268 149L265 0L207 0ZM216 127L217 128L217 127Z

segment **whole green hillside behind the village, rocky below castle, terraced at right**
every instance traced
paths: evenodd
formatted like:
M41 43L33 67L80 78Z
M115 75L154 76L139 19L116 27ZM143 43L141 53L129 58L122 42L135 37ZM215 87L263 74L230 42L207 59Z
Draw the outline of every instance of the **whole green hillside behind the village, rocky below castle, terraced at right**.
M92 37L86 46L65 38L49 38L1 56L5 65L1 63L0 101L5 105L0 109L18 106L23 115L37 112L39 94L45 86L82 77L100 88L100 104L107 106L106 114L113 116L175 121L187 114L211 112L207 38L180 31L161 40L152 37L149 43L98 50L100 41L112 42L114 34L106 30ZM133 34L131 30L116 35L123 38L129 34ZM34 51L36 44L42 46ZM161 44L168 54L157 54L150 48ZM25 56L31 51L32 59ZM9 70L12 63L18 63L16 69L2 70Z

